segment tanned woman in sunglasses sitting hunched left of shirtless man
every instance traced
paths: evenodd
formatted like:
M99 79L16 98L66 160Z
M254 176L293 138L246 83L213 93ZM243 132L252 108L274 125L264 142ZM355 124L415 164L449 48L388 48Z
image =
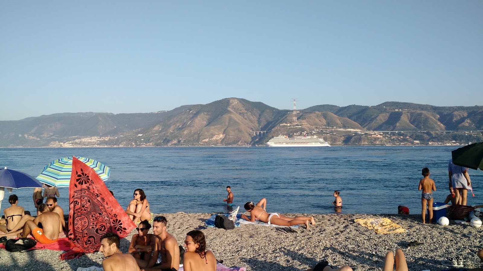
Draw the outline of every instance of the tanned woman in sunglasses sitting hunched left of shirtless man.
M153 246L156 243L156 236L148 233L150 228L151 224L149 224L149 221L141 221L138 228L136 228L138 234L132 236L131 244L128 248L128 253L131 253L133 257L147 262L151 259Z

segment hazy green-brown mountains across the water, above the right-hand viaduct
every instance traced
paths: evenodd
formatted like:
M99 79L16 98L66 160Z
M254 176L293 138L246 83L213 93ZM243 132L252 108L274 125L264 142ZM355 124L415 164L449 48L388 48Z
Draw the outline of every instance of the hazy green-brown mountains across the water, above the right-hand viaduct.
M0 147L240 146L324 127L370 131L483 130L482 106L436 107L401 102L377 106L318 105L299 110L300 127L280 125L290 123L292 117L291 110L241 98L153 113L57 113L0 121Z

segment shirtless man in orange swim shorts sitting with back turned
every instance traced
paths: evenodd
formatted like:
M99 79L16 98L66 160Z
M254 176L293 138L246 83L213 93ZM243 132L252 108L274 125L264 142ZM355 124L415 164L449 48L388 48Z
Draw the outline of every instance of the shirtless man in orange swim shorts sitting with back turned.
M32 234L35 240L42 244L54 243L57 241L59 233L62 232L60 217L57 213L51 212L45 203L39 205L39 210L42 214L35 217L33 220L25 221L21 237L27 237L28 234ZM25 215L25 217L26 216L28 215ZM22 220L23 217L20 221ZM39 227L41 223L42 228ZM16 227L18 226L19 225L17 224Z

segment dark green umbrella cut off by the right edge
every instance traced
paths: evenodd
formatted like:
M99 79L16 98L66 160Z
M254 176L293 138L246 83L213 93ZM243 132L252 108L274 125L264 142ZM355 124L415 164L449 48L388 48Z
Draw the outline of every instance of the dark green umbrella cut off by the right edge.
M455 165L483 170L483 142L455 149L451 156Z

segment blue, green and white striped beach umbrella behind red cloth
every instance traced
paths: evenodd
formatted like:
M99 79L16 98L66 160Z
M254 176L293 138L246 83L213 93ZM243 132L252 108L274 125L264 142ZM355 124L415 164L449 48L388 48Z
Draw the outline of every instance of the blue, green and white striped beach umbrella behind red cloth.
M77 156L75 158L94 169L94 171L103 181L109 178L111 169L109 169L108 166L105 166L104 164L90 158ZM40 175L37 176L37 180L50 186L69 187L71 172L72 157L60 158L46 165Z

